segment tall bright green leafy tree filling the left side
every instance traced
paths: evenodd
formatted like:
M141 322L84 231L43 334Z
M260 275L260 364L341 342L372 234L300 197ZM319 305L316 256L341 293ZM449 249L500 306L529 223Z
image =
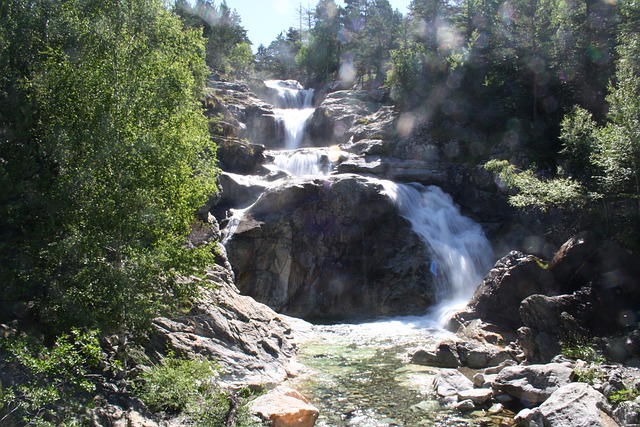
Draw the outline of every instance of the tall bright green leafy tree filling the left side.
M1 118L0 298L54 331L139 330L213 259L186 244L216 191L204 40L160 0L31 3L0 23L12 43L39 35L1 51L2 105L24 114Z

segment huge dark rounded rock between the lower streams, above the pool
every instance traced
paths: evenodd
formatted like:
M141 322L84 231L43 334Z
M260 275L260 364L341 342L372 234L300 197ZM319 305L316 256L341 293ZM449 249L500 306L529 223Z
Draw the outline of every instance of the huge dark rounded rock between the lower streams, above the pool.
M368 178L269 189L227 250L243 293L297 317L416 314L434 299L427 249Z

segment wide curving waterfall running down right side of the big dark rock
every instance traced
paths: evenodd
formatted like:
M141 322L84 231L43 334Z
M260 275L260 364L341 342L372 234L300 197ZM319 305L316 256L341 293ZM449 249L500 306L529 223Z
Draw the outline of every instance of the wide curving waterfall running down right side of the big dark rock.
M386 194L400 215L428 245L435 279L436 304L429 315L442 325L473 296L493 262L482 228L463 216L440 188L384 181Z

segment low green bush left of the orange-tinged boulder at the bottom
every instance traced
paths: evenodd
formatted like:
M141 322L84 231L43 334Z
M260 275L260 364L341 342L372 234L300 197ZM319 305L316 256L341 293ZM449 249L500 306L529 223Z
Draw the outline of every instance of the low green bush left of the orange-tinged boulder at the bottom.
M232 405L235 425L254 425L245 405L216 383L219 366L210 360L176 358L169 354L161 364L145 371L136 383L142 401L154 412L184 413L196 426L227 425Z

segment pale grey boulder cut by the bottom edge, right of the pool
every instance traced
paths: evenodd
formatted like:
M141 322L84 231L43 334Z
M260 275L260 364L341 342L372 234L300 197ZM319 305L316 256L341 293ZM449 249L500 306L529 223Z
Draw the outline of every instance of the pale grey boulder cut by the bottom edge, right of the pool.
M607 399L589 384L566 384L538 408L545 426L616 427Z

